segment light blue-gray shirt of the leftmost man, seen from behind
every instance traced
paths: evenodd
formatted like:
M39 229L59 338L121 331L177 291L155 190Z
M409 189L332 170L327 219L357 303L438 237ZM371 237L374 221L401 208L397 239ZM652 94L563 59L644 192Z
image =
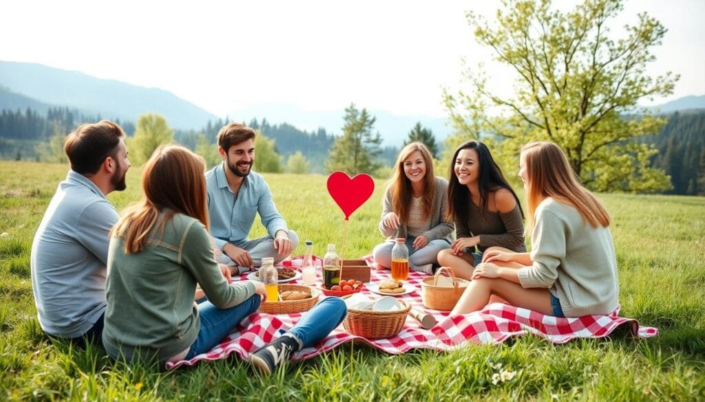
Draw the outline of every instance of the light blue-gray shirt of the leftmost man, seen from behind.
M105 310L110 228L118 213L73 170L59 183L32 241L32 291L39 325L56 337L85 334Z

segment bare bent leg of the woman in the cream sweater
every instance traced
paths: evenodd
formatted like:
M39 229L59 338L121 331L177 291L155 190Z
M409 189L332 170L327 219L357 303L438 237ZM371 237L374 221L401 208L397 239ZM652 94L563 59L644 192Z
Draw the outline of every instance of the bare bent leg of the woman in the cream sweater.
M522 285L502 278L478 278L467 285L450 315L482 310L496 295L516 307L528 308L542 314L553 314L551 294L545 288L524 289Z

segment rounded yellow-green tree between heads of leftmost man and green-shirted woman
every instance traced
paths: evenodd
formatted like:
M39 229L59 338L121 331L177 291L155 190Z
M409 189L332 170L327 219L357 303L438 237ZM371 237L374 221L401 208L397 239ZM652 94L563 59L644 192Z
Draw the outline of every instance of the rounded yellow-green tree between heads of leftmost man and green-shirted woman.
M135 165L147 162L152 153L161 144L168 144L173 139L174 130L166 119L157 113L140 115L135 126L135 136L128 139L130 161Z

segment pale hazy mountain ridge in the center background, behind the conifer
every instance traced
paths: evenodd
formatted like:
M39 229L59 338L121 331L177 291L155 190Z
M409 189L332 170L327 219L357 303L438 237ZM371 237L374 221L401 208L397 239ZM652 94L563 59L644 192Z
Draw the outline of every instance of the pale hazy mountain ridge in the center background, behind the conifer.
M345 107L342 105L340 111L307 111L295 105L286 103L260 103L247 108L233 111L228 117L234 121L250 123L253 118L261 121L266 118L269 124L288 123L300 130L315 132L319 127L326 129L326 132L334 135L342 134L343 115ZM364 108L364 105L355 105L357 108ZM446 118L436 118L427 115L395 115L388 111L369 110L368 112L376 118L374 130L379 131L385 145L401 146L407 134L417 122L431 129L436 136L436 142L443 142L450 132L450 126L446 125Z

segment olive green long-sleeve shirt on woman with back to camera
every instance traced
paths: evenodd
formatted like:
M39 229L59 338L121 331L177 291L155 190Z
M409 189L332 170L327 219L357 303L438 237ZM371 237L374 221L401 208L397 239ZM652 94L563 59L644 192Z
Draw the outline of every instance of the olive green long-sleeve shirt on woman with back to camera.
M139 353L164 361L190 347L200 329L197 283L219 308L255 294L251 282L226 282L200 221L176 214L162 233L162 220L164 213L138 253L126 254L121 237L110 241L103 345L114 358L134 360Z

